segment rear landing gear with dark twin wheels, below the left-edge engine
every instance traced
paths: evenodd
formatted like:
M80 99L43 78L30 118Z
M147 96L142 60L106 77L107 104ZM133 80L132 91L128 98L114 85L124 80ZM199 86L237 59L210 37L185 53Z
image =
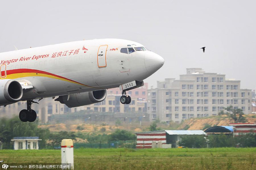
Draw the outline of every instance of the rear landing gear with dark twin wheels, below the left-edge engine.
M31 109L32 103L38 102L34 102L33 100L27 100L27 109L23 109L22 111L20 111L19 117L22 122L35 122L37 115L36 112Z

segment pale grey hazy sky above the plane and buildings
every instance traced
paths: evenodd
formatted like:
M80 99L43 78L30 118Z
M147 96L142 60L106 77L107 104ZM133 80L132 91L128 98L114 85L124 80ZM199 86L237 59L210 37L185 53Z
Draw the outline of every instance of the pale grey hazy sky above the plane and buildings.
M256 88L253 0L8 0L0 6L0 52L13 51L14 45L119 38L165 59L145 79L149 87L179 79L186 68L203 68L241 80L241 88Z

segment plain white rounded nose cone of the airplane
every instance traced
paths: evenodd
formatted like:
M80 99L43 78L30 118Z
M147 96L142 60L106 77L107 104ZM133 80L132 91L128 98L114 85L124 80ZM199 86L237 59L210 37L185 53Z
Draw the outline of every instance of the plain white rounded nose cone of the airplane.
M164 59L158 54L151 52L150 54L145 54L145 67L148 73L153 74L164 64Z

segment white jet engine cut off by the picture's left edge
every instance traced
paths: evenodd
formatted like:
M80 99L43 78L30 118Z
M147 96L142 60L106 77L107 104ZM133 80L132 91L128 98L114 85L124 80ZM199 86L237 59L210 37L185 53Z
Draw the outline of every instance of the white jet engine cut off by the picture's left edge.
M19 82L12 79L0 81L0 105L7 105L20 101L23 89Z

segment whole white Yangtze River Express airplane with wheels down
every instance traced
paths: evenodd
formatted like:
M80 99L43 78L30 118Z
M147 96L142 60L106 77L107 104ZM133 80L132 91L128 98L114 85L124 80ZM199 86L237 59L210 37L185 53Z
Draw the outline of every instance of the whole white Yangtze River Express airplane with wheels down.
M95 39L0 53L0 105L26 101L22 122L34 122L35 99L58 96L69 108L102 102L108 88L119 87L120 102L129 104L126 91L164 64L144 45L121 39Z

